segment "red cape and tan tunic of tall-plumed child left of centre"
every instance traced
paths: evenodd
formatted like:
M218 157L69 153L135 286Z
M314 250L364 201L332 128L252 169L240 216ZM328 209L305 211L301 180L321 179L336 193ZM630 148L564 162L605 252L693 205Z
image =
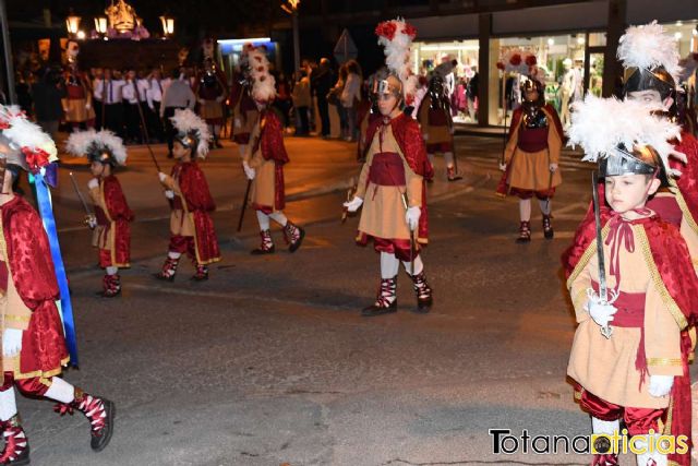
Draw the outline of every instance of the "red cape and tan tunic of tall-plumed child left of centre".
M244 159L256 171L250 195L252 206L265 214L282 211L286 206L284 165L289 158L284 145L284 126L274 109L260 113L251 141Z

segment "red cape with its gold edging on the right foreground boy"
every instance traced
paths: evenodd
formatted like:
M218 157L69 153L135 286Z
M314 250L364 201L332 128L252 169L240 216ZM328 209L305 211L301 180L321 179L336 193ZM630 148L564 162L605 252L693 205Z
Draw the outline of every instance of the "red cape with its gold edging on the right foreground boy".
M602 207L601 213L601 223L604 230L607 230L613 214L607 207ZM655 277L659 282L653 283L653 287L662 296L663 304L673 310L672 315L681 331L681 371L683 375L674 377L664 433L686 435L690 439L691 401L688 371L690 337L687 328L698 321L698 277L694 273L688 248L674 225L657 216L640 222L640 225L649 246L646 260L649 261L648 266L650 271L654 271L652 273L657 274ZM635 244L635 248L641 249L642 246ZM595 226L593 216L588 216L577 229L573 244L562 258L568 288L588 266L590 258L594 254ZM578 297L573 296L573 300L578 301ZM576 308L579 302L575 303ZM648 382L646 381L646 383ZM685 455L670 455L670 461L682 466L689 466L690 452Z

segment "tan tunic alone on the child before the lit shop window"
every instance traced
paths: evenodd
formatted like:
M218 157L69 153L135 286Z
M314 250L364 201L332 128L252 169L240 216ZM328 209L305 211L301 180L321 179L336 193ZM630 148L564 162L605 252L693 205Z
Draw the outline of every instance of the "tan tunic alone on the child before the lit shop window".
M555 131L552 118L547 118L549 131L547 131L547 150L539 152L525 152L521 151L518 144L519 129L524 124L521 123L514 131L509 142L506 145L504 152L505 164L510 165L509 178L507 183L512 188L519 188L531 191L546 191L549 188L555 188L563 182L559 168L555 170L552 178L550 177L550 164L559 164L559 153L563 147L563 142Z

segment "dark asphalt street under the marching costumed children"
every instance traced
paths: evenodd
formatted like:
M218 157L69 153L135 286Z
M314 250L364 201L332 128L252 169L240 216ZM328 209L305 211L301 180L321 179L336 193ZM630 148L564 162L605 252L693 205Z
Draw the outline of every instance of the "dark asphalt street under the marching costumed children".
M533 241L514 242L518 206L495 198L502 141L457 139L465 178L443 160L429 188L424 251L435 306L417 314L401 273L399 311L359 311L378 285L378 258L353 243L357 217L340 204L358 174L356 147L287 138L287 215L308 236L294 254L280 229L274 255L257 246L256 219L238 216L246 181L226 142L203 163L218 210L224 259L206 283L182 261L173 284L152 274L167 251L169 211L145 147L119 174L131 207L132 267L123 295L101 285L84 212L68 180L89 179L63 157L56 216L76 312L80 370L65 378L113 399L116 432L101 453L88 423L59 418L48 402L21 398L36 465L586 465L578 454L493 453L490 429L516 435L582 435L589 418L566 381L575 330L559 256L590 199L590 170L566 151L553 201L555 239L533 206ZM164 146L153 147L163 167ZM634 464L634 459L625 458Z

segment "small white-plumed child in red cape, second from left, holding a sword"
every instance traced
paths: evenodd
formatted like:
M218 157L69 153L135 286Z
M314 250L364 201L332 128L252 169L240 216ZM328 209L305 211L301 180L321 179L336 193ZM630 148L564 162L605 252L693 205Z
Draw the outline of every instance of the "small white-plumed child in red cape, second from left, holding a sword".
M95 216L89 216L87 224L94 230L93 247L99 250L99 266L105 270L103 296L113 298L121 292L119 268L129 267L131 256L133 212L115 175L117 167L127 163L127 150L121 138L108 130L72 133L65 148L91 163L94 178L87 188Z

